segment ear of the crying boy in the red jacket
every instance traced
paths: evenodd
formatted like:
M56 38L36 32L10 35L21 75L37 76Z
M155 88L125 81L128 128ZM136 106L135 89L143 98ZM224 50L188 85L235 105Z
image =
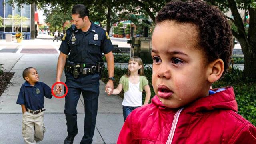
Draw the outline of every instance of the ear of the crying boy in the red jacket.
M224 62L222 59L214 60L208 64L208 81L213 83L216 82L222 76L224 72Z

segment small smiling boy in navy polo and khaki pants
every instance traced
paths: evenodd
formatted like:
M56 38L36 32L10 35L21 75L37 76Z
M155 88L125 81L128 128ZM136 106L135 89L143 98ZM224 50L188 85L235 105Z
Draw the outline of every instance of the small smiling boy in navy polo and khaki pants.
M26 144L36 144L44 138L44 96L52 98L51 88L39 82L35 68L26 68L22 76L26 82L22 84L17 104L22 108L22 136ZM54 90L60 94L60 90Z

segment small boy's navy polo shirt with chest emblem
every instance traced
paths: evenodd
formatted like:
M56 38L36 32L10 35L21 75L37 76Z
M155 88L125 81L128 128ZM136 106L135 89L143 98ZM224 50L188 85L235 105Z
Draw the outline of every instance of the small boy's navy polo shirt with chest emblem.
M44 96L52 98L52 91L49 86L43 82L36 82L34 86L30 86L28 82L22 84L17 99L17 104L24 104L30 110L40 110L44 108Z

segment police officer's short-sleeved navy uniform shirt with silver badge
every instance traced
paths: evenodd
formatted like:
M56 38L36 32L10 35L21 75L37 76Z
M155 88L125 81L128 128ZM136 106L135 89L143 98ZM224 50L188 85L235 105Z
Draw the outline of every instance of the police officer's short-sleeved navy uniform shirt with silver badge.
M72 32L71 28L68 28L63 39L59 50L66 55L70 53L69 61L84 63L85 67L102 62L102 52L107 54L113 49L108 33L93 22L86 33L81 29Z

